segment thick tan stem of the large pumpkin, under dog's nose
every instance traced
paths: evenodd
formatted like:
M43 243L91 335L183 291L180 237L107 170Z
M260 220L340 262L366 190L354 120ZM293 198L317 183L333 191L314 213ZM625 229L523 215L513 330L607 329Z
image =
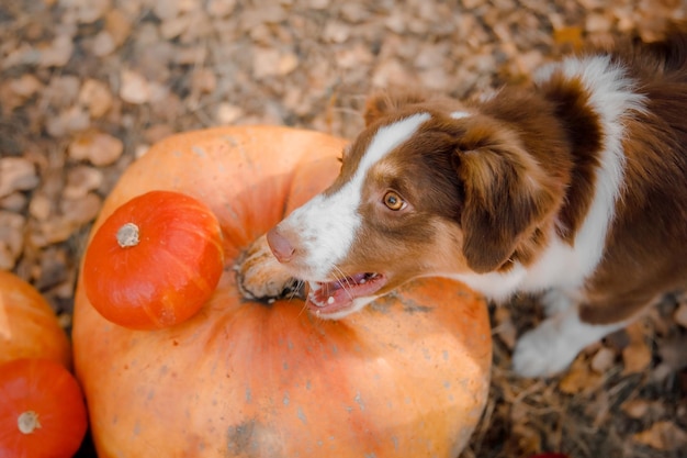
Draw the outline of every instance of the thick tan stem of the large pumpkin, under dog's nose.
M234 269L244 298L270 301L296 295L299 282L272 255L264 236L248 247Z

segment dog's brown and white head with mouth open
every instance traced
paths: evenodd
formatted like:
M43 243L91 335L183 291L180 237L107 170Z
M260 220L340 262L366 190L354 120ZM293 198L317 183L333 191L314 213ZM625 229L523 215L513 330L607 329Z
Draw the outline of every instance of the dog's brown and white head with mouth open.
M560 201L518 135L476 110L375 96L365 122L336 181L268 233L320 316L419 276L507 269Z

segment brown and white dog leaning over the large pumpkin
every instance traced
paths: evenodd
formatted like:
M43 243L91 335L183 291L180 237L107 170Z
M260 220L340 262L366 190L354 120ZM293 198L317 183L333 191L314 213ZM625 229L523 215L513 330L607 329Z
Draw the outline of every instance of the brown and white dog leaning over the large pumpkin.
M522 376L687 286L687 37L568 57L459 103L376 96L339 177L271 230L307 306L340 319L421 276L544 292Z

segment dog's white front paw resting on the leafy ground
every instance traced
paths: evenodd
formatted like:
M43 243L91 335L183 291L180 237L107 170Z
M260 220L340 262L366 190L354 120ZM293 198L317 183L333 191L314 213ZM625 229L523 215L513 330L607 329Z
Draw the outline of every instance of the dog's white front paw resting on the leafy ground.
M560 326L547 320L518 339L513 369L520 377L550 377L567 368L578 351L579 348L561 334Z

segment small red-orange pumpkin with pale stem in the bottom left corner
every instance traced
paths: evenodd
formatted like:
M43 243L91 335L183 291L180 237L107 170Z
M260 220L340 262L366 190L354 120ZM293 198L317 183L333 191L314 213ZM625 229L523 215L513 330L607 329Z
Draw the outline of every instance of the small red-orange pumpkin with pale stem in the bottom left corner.
M0 457L70 458L87 426L81 389L63 365L43 358L0 365Z

